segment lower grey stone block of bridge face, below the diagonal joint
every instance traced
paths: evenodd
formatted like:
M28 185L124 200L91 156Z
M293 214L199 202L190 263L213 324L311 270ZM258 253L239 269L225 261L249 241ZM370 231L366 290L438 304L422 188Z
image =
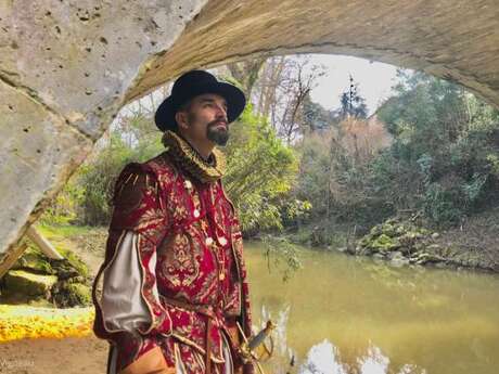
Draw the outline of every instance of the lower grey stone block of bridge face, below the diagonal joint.
M0 248L4 248L85 159L92 142L24 91L1 81L0 111Z

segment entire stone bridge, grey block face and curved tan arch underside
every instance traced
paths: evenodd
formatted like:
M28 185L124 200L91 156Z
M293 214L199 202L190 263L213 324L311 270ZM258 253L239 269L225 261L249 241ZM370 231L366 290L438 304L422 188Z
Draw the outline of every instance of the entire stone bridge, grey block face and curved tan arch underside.
M497 0L1 0L0 257L125 103L191 68L302 52L422 69L499 106Z

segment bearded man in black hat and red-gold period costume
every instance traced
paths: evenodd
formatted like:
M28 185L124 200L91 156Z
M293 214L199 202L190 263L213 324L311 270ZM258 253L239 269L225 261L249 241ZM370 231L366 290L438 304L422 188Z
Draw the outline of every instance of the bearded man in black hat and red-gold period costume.
M251 335L242 236L216 149L244 106L236 87L184 74L155 115L166 151L118 177L93 284L108 373L253 372L240 350L240 331Z

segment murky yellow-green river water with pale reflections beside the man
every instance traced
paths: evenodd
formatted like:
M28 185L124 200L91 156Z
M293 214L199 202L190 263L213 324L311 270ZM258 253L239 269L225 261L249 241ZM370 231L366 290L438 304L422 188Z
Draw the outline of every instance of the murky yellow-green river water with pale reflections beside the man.
M267 374L499 373L498 275L304 248L283 283L260 244L245 256L254 323L279 325Z

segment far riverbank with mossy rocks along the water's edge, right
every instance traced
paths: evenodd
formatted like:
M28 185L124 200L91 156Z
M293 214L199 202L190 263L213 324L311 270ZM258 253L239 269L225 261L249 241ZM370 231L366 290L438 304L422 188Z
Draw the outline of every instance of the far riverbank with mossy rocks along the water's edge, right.
M408 219L388 219L363 235L345 225L315 223L287 233L292 243L369 256L391 266L432 266L499 272L499 208L473 216L447 230Z

